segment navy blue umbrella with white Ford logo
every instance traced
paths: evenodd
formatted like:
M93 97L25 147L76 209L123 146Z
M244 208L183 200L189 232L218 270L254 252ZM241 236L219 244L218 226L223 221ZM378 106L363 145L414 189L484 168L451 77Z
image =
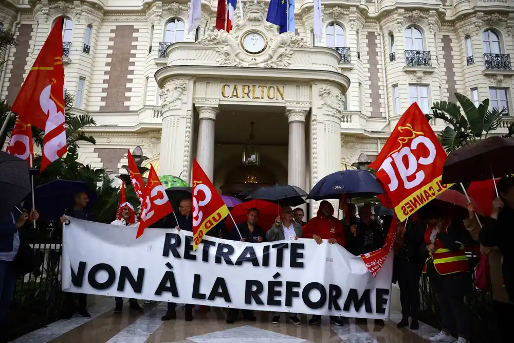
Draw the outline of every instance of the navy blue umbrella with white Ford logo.
M375 176L367 170L341 170L323 177L310 191L308 198L316 201L382 194Z

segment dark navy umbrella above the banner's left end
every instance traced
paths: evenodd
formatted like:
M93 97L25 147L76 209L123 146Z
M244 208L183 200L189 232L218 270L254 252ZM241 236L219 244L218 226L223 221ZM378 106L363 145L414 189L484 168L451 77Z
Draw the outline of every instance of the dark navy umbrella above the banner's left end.
M90 209L96 201L96 195L82 181L57 179L34 189L35 209L43 220L58 220L64 211L69 210L75 202L75 194L86 192L89 196L87 208ZM31 205L32 200L28 201ZM25 202L27 204L27 201ZM27 208L27 206L24 206Z

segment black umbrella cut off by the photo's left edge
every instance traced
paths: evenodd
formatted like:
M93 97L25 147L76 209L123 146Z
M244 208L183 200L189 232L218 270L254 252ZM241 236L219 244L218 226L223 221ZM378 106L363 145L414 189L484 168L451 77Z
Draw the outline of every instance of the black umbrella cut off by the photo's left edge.
M4 218L29 193L27 161L0 151L0 218Z

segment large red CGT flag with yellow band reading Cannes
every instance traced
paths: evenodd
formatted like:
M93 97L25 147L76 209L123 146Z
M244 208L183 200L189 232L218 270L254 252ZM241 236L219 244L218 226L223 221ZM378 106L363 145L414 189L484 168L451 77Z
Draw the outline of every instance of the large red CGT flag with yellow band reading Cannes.
M452 185L443 185L446 151L417 103L401 116L370 165L384 185L400 222Z

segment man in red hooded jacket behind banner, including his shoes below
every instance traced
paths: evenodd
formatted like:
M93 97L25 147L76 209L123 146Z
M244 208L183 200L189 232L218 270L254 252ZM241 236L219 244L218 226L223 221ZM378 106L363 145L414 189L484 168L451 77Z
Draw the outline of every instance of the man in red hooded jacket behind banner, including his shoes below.
M303 227L303 238L312 238L318 244L322 244L325 239L330 244L338 243L343 247L346 246L343 225L334 217L334 207L331 203L326 200L320 203L316 217ZM342 327L345 322L342 317L337 316L330 316L330 321L339 327ZM313 315L308 323L309 325L320 324L321 316Z

